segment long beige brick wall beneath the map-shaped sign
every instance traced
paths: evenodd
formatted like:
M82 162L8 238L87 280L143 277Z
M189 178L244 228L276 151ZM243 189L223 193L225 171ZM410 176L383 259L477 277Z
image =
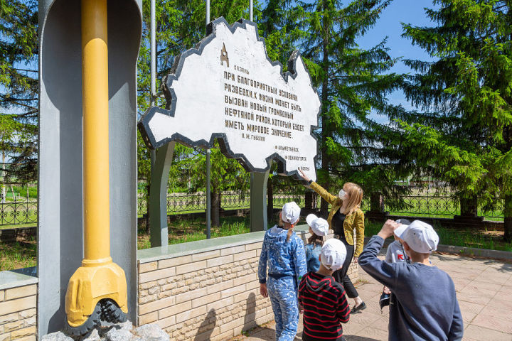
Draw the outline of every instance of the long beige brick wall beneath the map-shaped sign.
M273 320L257 280L261 247L252 242L139 261L137 324L158 323L171 340L215 341ZM357 266L349 273L356 280Z

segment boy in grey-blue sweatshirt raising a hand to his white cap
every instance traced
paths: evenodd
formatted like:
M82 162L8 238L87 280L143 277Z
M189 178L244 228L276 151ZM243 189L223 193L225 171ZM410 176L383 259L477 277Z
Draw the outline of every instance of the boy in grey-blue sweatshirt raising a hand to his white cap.
M393 232L402 239L410 264L378 259L384 239ZM396 298L390 304L390 341L462 340L464 327L452 278L429 260L438 242L437 233L425 222L415 220L407 226L388 220L359 256L361 268Z

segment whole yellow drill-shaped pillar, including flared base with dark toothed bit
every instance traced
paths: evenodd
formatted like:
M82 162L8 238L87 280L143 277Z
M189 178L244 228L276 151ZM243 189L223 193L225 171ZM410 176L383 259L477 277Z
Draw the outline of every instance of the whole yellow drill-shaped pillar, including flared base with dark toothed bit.
M72 335L94 328L102 300L128 312L126 277L110 257L108 100L107 0L82 0L84 259L65 297Z

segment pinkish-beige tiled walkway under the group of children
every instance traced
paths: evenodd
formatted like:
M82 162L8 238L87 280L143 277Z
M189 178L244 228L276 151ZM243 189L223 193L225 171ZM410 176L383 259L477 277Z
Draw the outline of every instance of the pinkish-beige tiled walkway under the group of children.
M491 259L434 254L432 264L452 276L464 319L466 341L512 340L512 264ZM388 340L388 308L380 313L382 285L360 269L358 292L368 308L343 325L348 341ZM353 300L351 300L351 305ZM301 316L302 319L302 316ZM302 320L295 340L302 340ZM274 340L274 324L257 328L243 341Z

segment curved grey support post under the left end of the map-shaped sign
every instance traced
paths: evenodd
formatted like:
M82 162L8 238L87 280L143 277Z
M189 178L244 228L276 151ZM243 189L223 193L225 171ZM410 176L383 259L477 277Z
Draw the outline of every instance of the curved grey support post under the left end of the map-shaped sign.
M149 240L151 247L163 247L169 244L167 181L175 145L176 142L173 141L156 149L154 167L151 168L151 184L149 185Z

